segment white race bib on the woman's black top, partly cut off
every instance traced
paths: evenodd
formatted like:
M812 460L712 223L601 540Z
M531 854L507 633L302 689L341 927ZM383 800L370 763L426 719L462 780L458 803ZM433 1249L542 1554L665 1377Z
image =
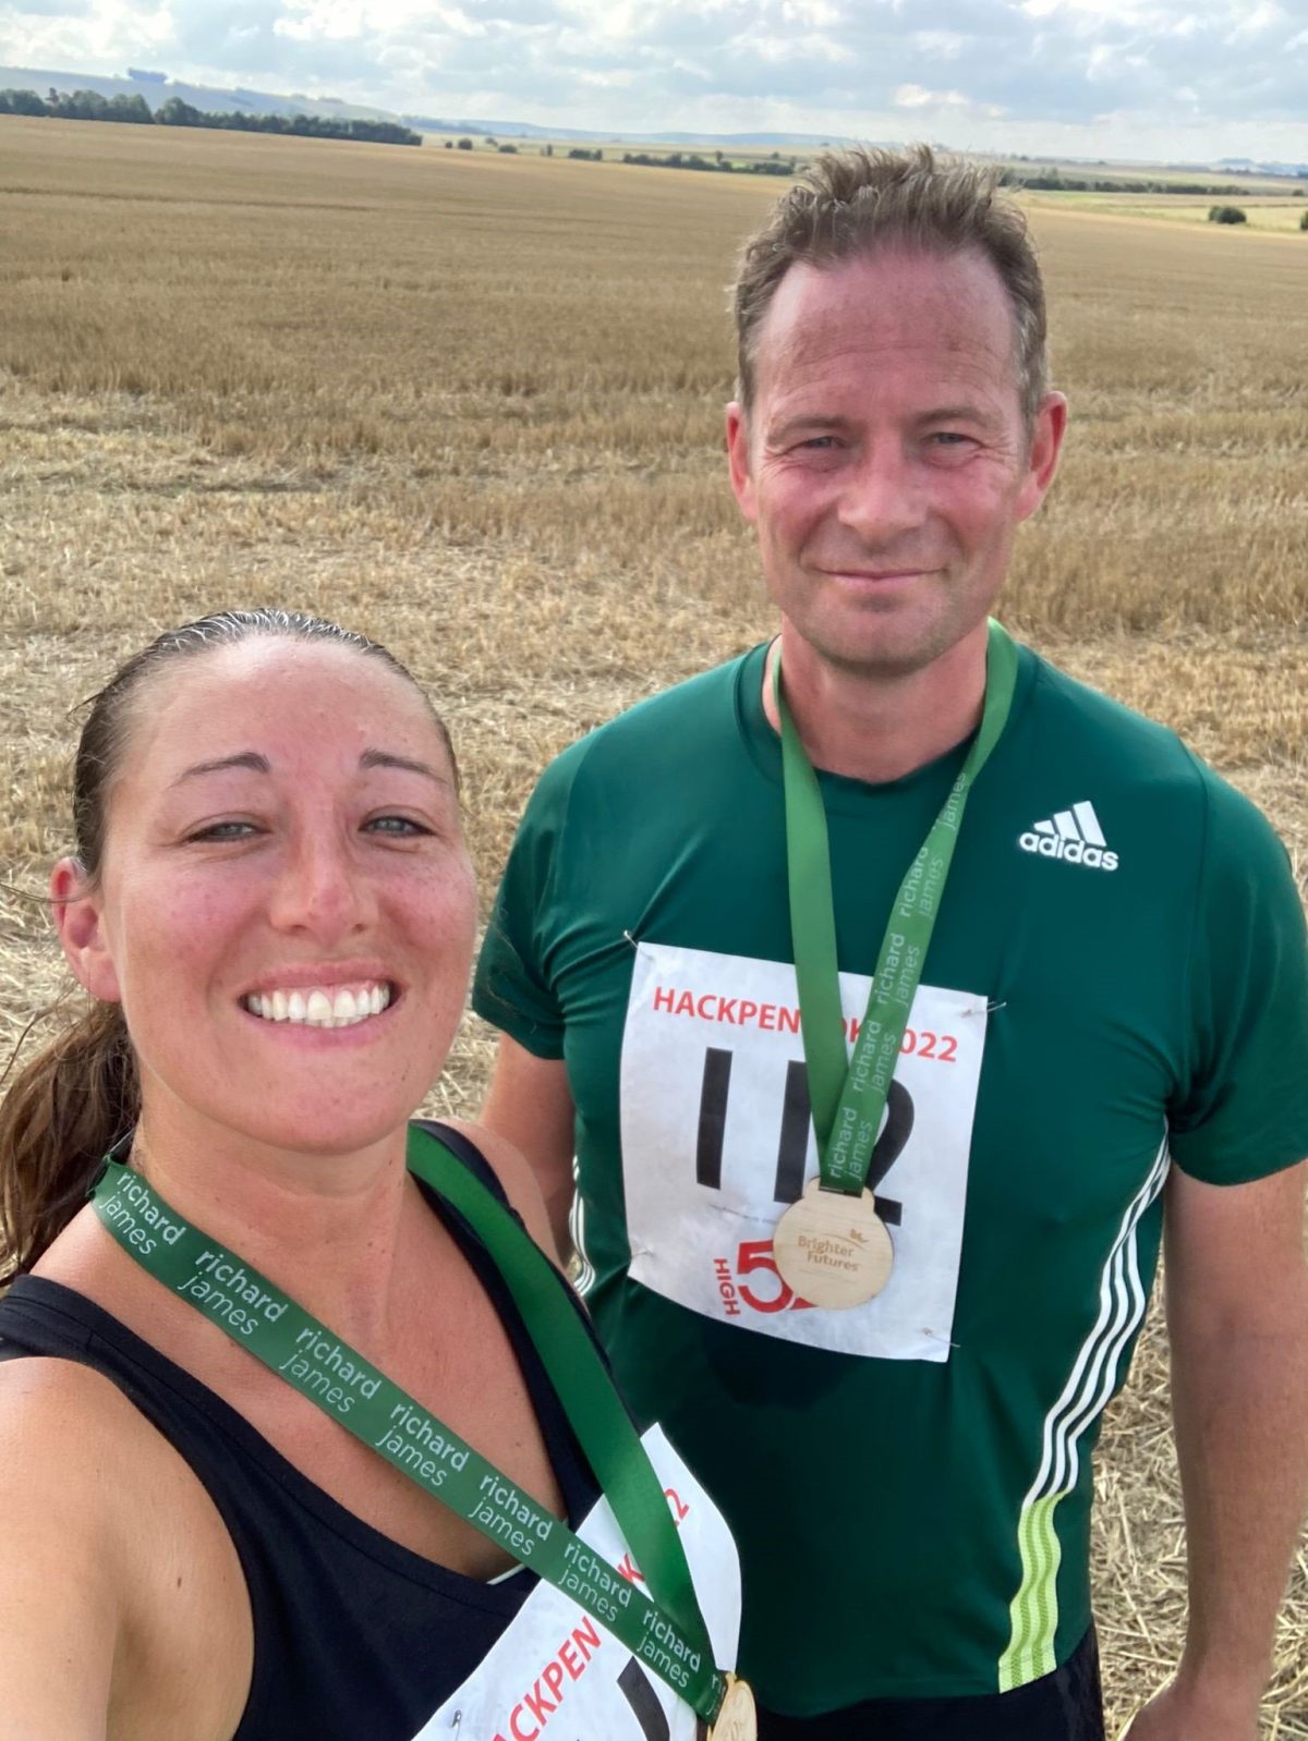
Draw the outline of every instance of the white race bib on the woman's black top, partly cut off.
M686 1549L718 1666L733 1666L740 1635L740 1565L721 1513L653 1426L641 1440L664 1483ZM634 1583L641 1581L608 1501L576 1534ZM538 1584L512 1626L413 1741L695 1741L698 1718L653 1668L676 1673L671 1647L646 1637L641 1654L620 1644L568 1595ZM552 1725L552 1727L550 1727Z

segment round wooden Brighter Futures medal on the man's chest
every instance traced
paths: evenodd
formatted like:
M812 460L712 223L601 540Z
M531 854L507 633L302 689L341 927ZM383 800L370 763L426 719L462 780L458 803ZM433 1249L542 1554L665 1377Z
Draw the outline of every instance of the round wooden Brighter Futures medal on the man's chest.
M777 1222L772 1254L785 1287L826 1311L876 1299L895 1262L873 1193L824 1191L820 1179L810 1179Z

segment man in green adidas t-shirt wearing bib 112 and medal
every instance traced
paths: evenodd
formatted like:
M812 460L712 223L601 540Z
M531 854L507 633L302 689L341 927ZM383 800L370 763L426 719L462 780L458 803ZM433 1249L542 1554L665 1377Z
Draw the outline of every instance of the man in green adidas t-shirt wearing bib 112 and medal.
M543 775L477 975L486 1121L559 1222L576 1154L618 1379L737 1532L765 1738L1102 1732L1090 1452L1165 1220L1190 1631L1130 1734L1254 1741L1308 1419L1285 853L988 629L1066 421L988 172L819 158L735 308L732 484L780 634ZM846 1079L887 1034L893 1081L857 1046ZM773 1248L801 1196L862 1231ZM810 1302L808 1259L860 1280Z

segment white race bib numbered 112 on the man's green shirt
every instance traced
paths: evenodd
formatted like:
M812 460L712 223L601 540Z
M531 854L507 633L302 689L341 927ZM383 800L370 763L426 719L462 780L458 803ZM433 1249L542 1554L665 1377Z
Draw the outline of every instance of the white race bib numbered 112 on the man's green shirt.
M846 1039L871 980L839 975ZM947 1360L986 999L920 985L867 1184L893 1243L885 1290L817 1311L772 1259L817 1175L794 968L639 944L622 1041L630 1276L705 1318L881 1360Z

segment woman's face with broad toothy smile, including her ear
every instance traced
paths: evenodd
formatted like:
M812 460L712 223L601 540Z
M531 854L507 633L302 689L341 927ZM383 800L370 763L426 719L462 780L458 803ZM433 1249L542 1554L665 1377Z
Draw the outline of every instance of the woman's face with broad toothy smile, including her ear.
M165 667L105 841L61 933L122 1001L146 1121L298 1153L402 1125L463 1008L475 891L449 757L397 672L270 637Z

